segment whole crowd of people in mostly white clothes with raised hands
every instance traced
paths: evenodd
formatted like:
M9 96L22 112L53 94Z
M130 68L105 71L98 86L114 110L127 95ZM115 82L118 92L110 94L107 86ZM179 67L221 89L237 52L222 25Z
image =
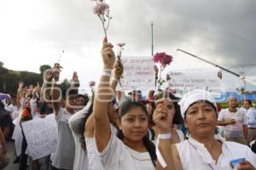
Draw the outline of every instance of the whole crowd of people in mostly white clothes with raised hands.
M20 170L153 170L153 169L256 169L256 112L244 99L237 108L235 96L218 111L212 95L195 89L182 99L170 88L129 96L116 90L123 65L115 59L113 45L102 43L102 76L92 95L79 94L79 77L71 85L57 84L61 65L44 72L35 87L19 83L16 100L0 103L0 162L6 166L6 139L15 126L54 114L55 153L32 160L22 129L17 162ZM18 120L18 121L17 121ZM21 126L22 127L22 126Z

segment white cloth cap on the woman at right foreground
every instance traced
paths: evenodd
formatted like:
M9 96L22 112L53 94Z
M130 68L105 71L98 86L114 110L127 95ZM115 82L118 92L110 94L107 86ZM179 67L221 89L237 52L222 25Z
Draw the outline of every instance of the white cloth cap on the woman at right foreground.
M212 94L210 94L205 90L195 89L190 91L187 94L184 94L183 99L181 99L180 102L178 102L178 105L180 105L180 111L181 111L181 115L183 116L183 119L185 116L185 111L189 109L189 105L195 103L198 100L207 100L211 102L212 105L214 105L215 109L217 110L216 101L212 97Z

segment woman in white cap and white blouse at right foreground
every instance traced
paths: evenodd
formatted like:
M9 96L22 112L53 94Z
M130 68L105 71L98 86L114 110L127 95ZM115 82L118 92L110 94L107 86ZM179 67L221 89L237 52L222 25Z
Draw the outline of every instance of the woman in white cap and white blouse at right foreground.
M191 135L188 140L172 145L170 164L174 169L231 170L230 162L241 160L236 169L255 170L256 156L246 145L214 136L218 112L210 93L193 90L183 96L179 105Z

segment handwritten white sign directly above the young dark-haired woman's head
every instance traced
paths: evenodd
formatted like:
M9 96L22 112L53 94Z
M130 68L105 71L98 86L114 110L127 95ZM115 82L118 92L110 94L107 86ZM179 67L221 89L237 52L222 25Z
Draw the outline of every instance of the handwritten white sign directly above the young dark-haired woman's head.
M154 89L154 61L151 57L125 57L122 63L124 73L120 89Z

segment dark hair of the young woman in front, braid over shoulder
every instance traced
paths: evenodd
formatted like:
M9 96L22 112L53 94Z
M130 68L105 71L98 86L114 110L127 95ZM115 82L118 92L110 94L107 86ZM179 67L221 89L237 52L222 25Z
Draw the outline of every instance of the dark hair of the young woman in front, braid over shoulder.
M137 101L126 100L119 107L119 114L118 114L119 121L121 120L121 118L123 116L125 116L125 114L128 111L131 110L132 107L139 107L143 110L143 112L145 112L148 115L148 111L147 111L145 105L143 105L143 103L137 102ZM122 132L122 130L120 130L120 129L118 130L117 137L121 140L124 139L124 133ZM148 150L151 161L153 162L154 167L155 167L154 161L156 161L156 159L157 159L157 156L155 154L155 146L154 146L153 142L151 142L151 140L149 140L148 135L143 137L143 144L144 144L145 148Z

